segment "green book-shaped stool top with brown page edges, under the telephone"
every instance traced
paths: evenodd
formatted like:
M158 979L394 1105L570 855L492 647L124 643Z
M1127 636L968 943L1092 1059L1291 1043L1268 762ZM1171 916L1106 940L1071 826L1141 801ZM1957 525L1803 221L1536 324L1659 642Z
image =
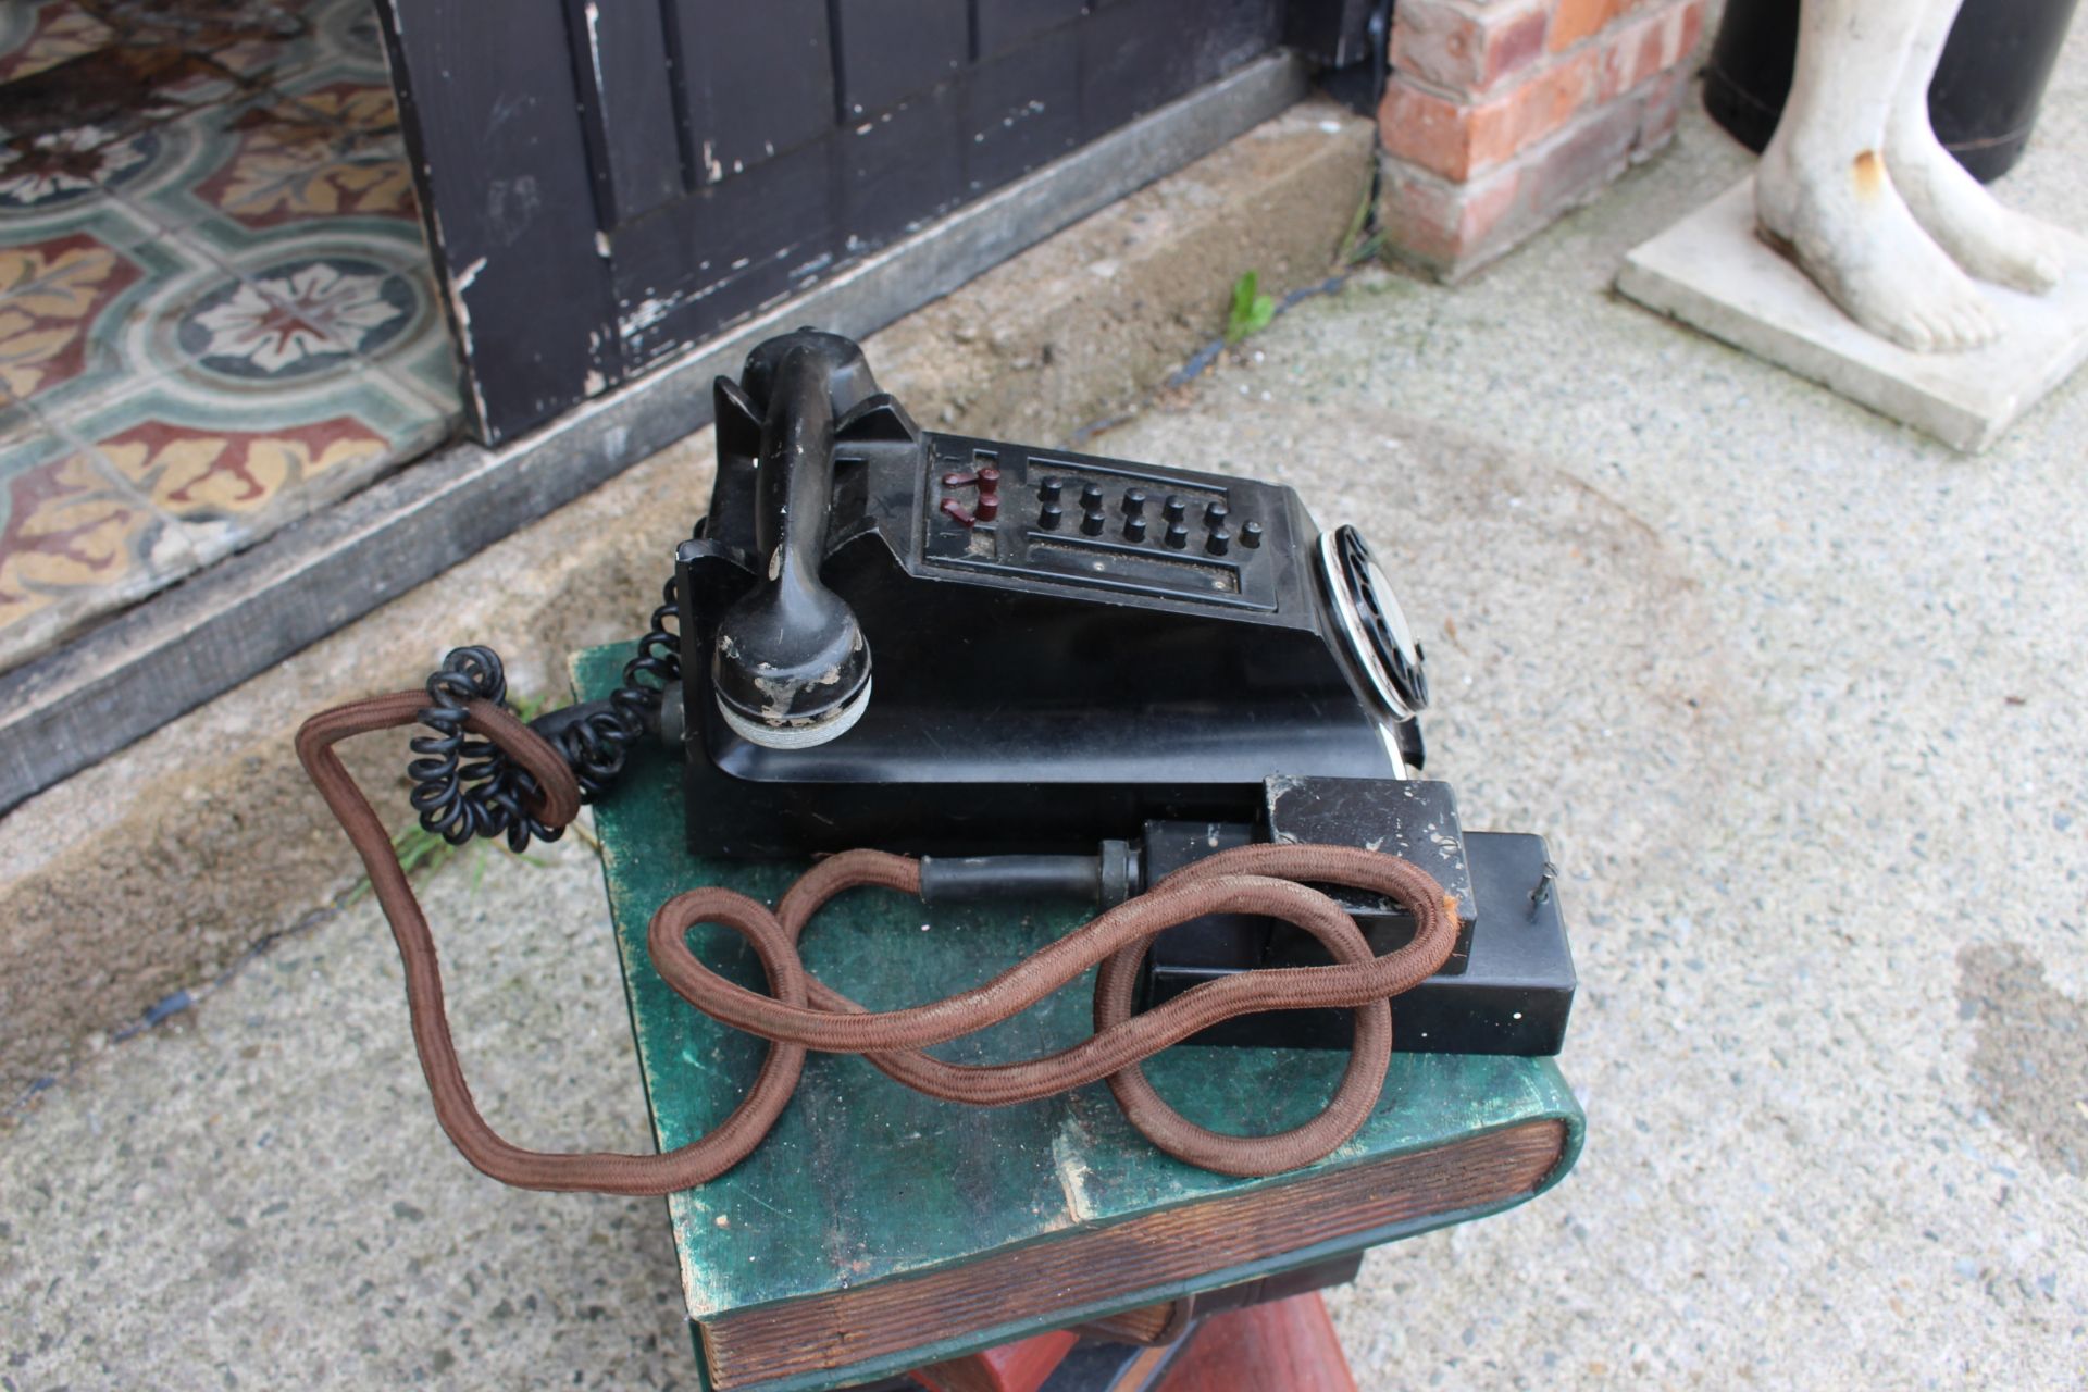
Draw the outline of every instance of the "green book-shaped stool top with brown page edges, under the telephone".
M624 649L574 662L606 695ZM766 1043L704 1016L654 973L654 910L697 885L775 902L798 864L699 860L679 768L643 753L595 808L631 1025L660 1148L716 1127ZM1011 966L1086 920L1077 906L923 908L848 891L804 937L806 966L871 1010ZM758 987L739 935L697 929L712 968ZM1090 1033L1090 983L938 1050L1002 1062ZM1397 1002L1395 1002L1397 1014ZM1278 1131L1332 1094L1347 1056L1180 1046L1146 1064L1192 1121ZM1378 1110L1303 1171L1230 1179L1148 1146L1102 1085L1006 1108L915 1094L869 1062L812 1054L768 1139L668 1198L706 1386L837 1388L1510 1208L1556 1183L1583 1117L1549 1058L1395 1054Z

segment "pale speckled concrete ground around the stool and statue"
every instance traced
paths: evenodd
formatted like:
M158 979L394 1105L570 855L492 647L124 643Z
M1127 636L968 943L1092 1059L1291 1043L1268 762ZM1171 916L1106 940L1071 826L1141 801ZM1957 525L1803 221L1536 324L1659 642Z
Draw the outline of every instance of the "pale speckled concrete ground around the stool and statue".
M2088 227L2088 40L2011 202ZM1457 290L1372 273L1094 449L1372 534L1430 772L1551 837L1589 1114L1556 1192L1370 1256L1363 1388L2080 1386L2088 378L1969 459L1608 292L1702 117ZM428 889L495 1125L637 1146L585 847ZM198 866L198 872L223 872ZM0 1386L691 1386L658 1202L443 1142L363 902L0 1142Z

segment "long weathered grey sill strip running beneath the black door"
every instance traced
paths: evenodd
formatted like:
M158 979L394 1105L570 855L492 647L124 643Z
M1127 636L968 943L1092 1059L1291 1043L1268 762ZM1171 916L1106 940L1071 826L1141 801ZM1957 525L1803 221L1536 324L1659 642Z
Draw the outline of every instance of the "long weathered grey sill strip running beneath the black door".
M0 676L0 814L710 424L798 323L860 338L1305 96L1276 52L499 449L455 445Z

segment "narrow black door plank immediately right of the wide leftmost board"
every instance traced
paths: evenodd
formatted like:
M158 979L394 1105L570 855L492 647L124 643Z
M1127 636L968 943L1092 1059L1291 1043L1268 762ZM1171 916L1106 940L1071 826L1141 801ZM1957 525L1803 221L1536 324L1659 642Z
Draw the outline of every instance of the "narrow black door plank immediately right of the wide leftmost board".
M683 148L656 0L566 0L595 207L603 227L683 192Z

